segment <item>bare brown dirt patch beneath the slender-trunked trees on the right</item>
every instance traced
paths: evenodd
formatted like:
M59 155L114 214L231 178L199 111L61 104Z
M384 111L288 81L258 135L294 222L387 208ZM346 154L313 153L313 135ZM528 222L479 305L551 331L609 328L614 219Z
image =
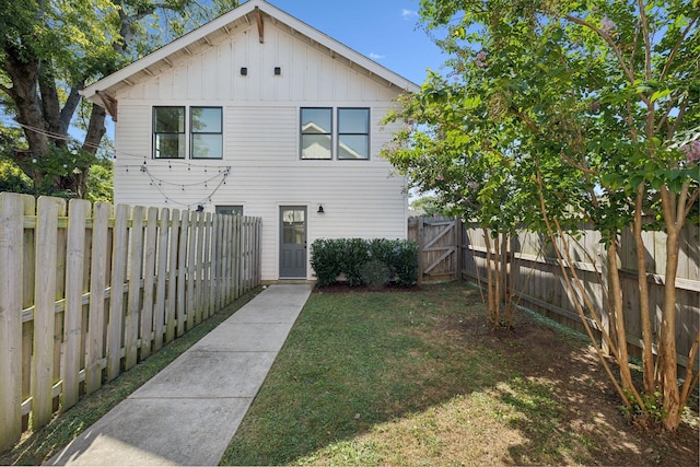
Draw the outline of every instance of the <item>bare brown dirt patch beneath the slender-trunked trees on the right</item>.
M696 466L699 453L698 400L686 411L684 423L676 433L649 431L628 420L621 401L607 377L595 350L581 345L579 338L518 314L513 329L492 331L483 318L465 319L448 316L440 325L442 332L464 343L485 346L494 353L509 355L510 364L525 376L523 385L532 385L533 393L550 388L560 401L552 412L551 427L518 427L532 440L547 436L563 437L575 434L587 440L588 452L602 465L664 465ZM583 350L583 351L582 351ZM612 366L614 367L614 366ZM498 393L500 389L494 389ZM509 400L509 395L500 395ZM515 402L513 402L515 404ZM541 441L536 443L541 448ZM520 444L510 448L516 464L530 464L528 450ZM551 459L555 464L556 458Z

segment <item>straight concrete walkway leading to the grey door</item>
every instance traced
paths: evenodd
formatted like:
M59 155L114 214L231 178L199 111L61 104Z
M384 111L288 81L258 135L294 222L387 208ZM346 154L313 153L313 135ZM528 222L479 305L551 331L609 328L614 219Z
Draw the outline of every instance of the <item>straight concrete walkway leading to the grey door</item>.
M270 285L48 465L218 465L312 285Z

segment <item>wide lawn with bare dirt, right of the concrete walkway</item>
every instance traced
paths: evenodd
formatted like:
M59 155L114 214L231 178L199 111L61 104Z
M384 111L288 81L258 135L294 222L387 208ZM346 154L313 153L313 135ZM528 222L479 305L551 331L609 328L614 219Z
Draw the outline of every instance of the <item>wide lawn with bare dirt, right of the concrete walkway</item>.
M490 332L464 283L314 293L221 465L695 465L685 429L640 436L581 335Z

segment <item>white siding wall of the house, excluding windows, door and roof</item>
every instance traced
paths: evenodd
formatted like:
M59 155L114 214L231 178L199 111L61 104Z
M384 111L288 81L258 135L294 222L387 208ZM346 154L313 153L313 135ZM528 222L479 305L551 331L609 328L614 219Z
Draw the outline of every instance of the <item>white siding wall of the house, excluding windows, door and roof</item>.
M275 75L275 67L281 75ZM265 224L260 268L266 281L279 279L282 206L306 207L310 245L319 237L406 238L406 180L380 155L396 129L381 122L398 93L283 25L266 22L264 44L257 26L237 27L186 63L116 96L115 200L182 209L201 202L209 212L215 206L243 206L246 215ZM223 160L151 159L155 105L221 106ZM300 108L316 106L332 107L334 114L338 107L370 108L369 161L300 160ZM144 163L148 173L140 171ZM205 184L225 167L231 167L225 184ZM152 184L149 174L163 183ZM316 213L318 205L325 214ZM313 279L310 266L307 271Z

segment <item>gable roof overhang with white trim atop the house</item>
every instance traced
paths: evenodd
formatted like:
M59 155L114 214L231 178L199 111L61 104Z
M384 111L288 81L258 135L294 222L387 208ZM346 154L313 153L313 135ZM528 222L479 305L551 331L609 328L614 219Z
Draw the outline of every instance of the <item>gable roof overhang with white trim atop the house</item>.
M295 37L305 38L310 44L324 50L330 57L335 59L342 58L348 63L353 65L355 69L370 77L383 80L389 86L396 86L409 92L418 92L420 89L416 83L340 44L265 0L248 0L230 12L124 67L119 71L85 86L80 93L85 98L104 106L113 116L116 116L116 113L110 109L110 104L116 104L114 96L120 90L133 86L162 71L170 70L187 61L191 56L224 42L230 35L235 34L236 30L248 27L250 24L257 24L259 39L262 43L265 40L266 22L271 22L278 27L283 25Z

